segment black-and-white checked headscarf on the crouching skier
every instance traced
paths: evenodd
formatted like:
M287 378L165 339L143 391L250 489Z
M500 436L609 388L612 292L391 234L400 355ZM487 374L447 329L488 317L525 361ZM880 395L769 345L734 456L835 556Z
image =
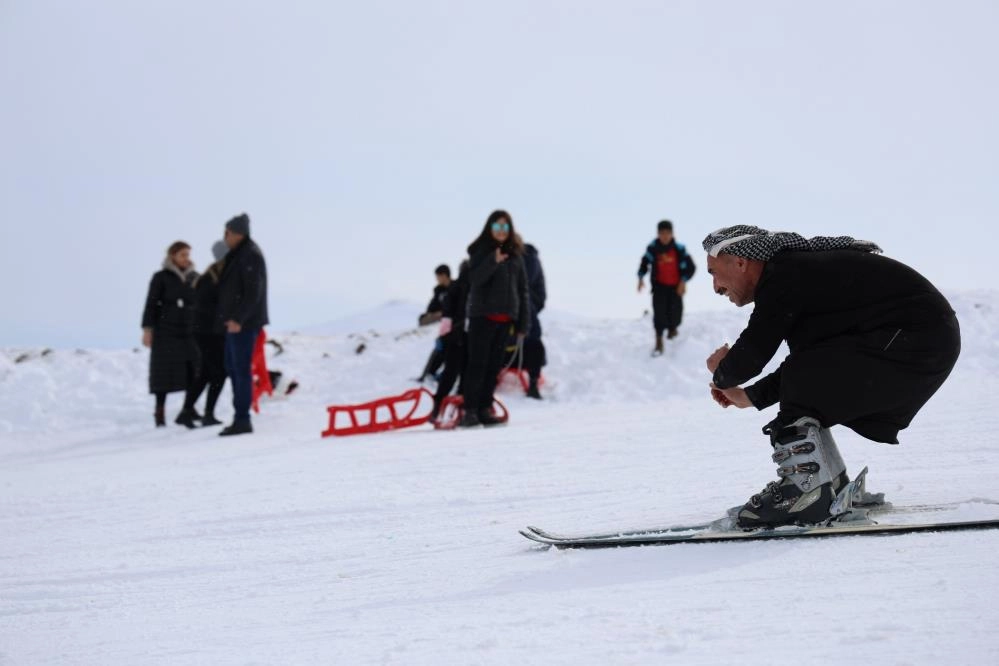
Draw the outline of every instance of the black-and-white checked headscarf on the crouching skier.
M724 227L708 234L702 243L704 251L712 257L734 254L737 257L769 261L779 252L823 252L825 250L858 250L881 252L871 241L857 240L850 236L816 236L805 238L791 231L767 231L749 224Z

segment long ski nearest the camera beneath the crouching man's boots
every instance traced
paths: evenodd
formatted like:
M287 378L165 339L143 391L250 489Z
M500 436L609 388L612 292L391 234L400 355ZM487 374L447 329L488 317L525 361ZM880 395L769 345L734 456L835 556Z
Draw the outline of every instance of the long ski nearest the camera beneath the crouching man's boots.
M722 519L724 520L724 519ZM673 527L658 532L632 532L612 536L553 538L555 535L538 528L520 530L520 534L537 543L556 548L616 548L621 546L651 546L676 543L718 543L725 541L763 541L768 539L801 539L834 536L913 534L919 532L951 532L999 529L999 519L962 522L930 522L911 524L833 524L828 526L786 525L772 529L714 530L714 523Z

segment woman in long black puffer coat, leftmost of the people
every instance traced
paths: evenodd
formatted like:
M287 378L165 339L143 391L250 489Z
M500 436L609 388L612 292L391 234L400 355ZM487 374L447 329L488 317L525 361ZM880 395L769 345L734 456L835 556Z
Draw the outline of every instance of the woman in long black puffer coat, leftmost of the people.
M142 344L152 348L149 392L156 396L157 427L166 425L167 393L187 390L198 376L200 356L194 341L197 277L191 246L177 241L167 250L163 269L149 282L142 313Z

